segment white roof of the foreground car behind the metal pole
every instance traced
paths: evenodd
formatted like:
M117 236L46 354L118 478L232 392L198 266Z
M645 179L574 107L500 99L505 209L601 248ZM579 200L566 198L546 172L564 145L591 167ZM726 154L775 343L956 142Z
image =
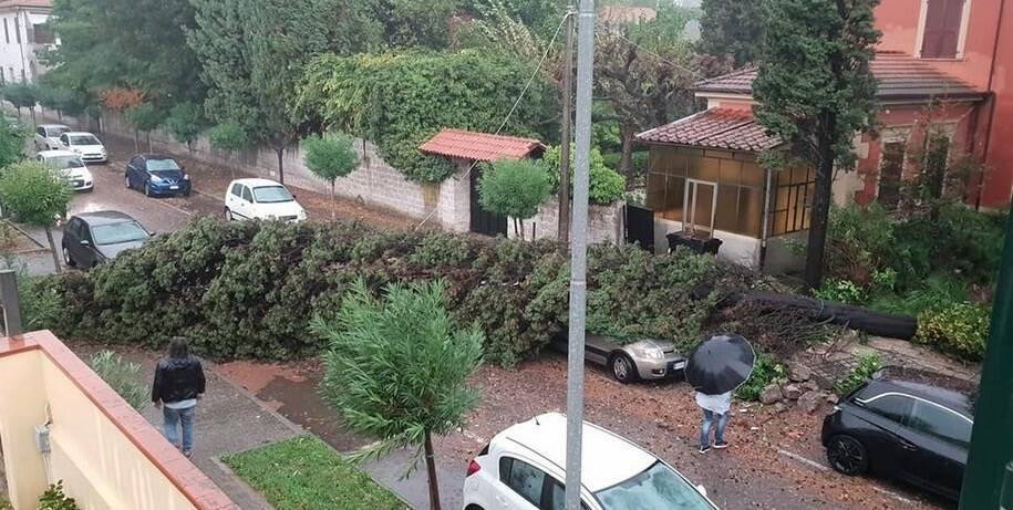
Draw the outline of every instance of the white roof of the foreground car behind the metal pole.
M548 413L514 425L494 440L509 439L566 469L567 418ZM581 482L591 492L607 489L643 472L658 458L633 443L597 425L583 423Z

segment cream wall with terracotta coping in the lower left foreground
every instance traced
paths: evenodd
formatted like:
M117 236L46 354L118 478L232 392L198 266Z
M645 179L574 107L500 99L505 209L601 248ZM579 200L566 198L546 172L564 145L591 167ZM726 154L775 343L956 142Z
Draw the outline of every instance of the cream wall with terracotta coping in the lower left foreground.
M0 441L15 510L37 508L58 480L89 510L237 508L49 332L0 340ZM35 426L45 423L48 455L34 441Z

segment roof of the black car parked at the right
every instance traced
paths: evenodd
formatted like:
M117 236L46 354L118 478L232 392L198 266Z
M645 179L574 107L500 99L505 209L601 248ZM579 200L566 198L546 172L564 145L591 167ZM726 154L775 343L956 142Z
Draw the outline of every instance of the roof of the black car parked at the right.
M942 404L974 416L978 386L957 377L926 370L888 366L872 376L877 392L899 392Z

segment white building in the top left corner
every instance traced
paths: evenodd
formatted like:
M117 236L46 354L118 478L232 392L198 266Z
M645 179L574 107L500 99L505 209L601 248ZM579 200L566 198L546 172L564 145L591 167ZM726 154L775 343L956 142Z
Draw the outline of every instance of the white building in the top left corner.
M45 25L52 10L50 0L0 0L0 84L34 82L45 72L39 52L58 43Z

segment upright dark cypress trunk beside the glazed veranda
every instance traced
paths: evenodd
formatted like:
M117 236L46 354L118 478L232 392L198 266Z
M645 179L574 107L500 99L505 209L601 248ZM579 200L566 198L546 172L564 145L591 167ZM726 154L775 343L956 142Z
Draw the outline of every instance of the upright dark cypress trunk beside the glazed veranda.
M813 197L813 220L809 223L809 246L806 251L806 285L818 289L823 283L824 261L827 251L827 226L830 219L830 198L834 187L834 147L831 133L837 118L827 114L818 143L819 164L816 167L816 195Z

